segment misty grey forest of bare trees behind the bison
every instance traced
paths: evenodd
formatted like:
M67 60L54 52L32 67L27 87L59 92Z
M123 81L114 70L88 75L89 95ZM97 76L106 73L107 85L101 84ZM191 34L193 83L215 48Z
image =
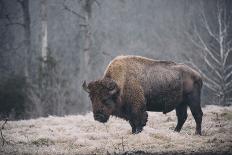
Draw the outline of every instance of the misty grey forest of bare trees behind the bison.
M0 0L0 118L91 110L82 82L132 54L186 63L232 104L230 0Z

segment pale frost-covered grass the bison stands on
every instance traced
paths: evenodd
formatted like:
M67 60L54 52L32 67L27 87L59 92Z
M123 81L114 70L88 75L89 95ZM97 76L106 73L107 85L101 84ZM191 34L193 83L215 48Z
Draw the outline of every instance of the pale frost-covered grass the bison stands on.
M232 107L203 108L203 135L195 135L188 111L182 131L173 131L175 111L150 112L143 132L131 134L128 122L111 117L105 124L86 115L9 121L3 134L10 144L0 154L108 154L124 152L229 152L232 154Z

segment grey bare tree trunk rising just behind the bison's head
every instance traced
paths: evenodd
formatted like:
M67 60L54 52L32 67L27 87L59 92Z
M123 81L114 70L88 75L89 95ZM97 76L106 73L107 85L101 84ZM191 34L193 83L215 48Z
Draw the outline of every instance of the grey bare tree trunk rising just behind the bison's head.
M80 21L78 28L82 32L83 35L83 44L81 45L81 52L80 52L80 82L83 82L84 80L88 80L89 74L90 74L90 54L91 54L91 48L92 48L92 28L91 28L91 17L92 17L92 7L93 4L97 4L100 6L100 3L97 0L81 0L78 2L78 5L81 6L81 8L76 9L72 8L67 5L67 1L63 2L63 8L71 13L72 15L76 16L77 19ZM81 84L80 84L81 85ZM82 91L82 87L79 87L80 94ZM80 96L80 100L83 103L86 103L87 98L84 95ZM89 106L87 104L84 104L82 107L83 109L88 109Z

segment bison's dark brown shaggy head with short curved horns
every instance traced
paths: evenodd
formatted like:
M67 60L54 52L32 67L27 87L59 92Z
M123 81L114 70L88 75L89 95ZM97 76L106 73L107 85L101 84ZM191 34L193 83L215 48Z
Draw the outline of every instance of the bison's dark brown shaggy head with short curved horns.
M116 82L110 78L97 80L86 84L83 83L83 89L89 93L92 101L94 119L105 123L115 110L115 103L119 96L119 87Z

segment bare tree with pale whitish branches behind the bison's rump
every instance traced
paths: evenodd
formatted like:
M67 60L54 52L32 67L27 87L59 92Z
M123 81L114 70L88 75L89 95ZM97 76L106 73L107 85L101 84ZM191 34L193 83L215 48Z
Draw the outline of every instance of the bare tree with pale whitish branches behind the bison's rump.
M200 17L202 29L195 25L192 35L186 33L194 46L202 51L202 60L211 73L205 73L191 58L188 58L188 62L201 73L205 86L218 97L218 103L224 105L232 100L229 96L232 93L232 64L229 61L230 53L232 53L232 38L229 35L232 21L225 1L218 0L216 5L214 26L210 24L210 20L203 11Z

